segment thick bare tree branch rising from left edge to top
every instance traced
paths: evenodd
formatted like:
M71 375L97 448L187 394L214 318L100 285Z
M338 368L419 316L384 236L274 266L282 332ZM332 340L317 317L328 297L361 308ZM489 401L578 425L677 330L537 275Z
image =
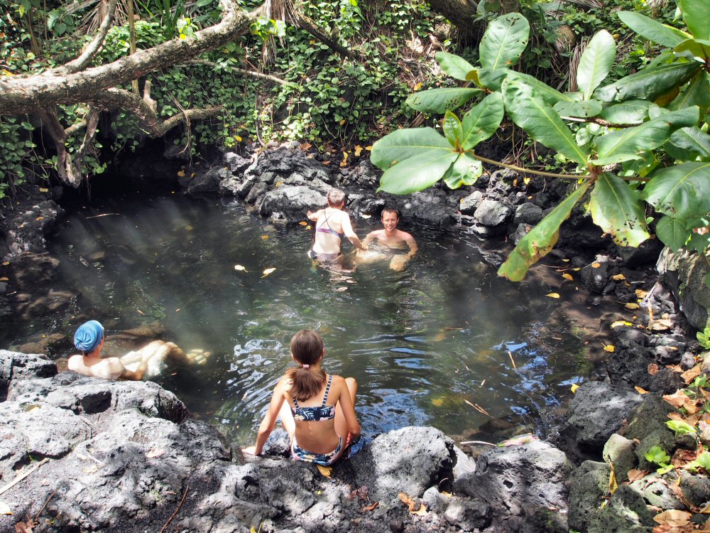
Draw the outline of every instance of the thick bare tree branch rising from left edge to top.
M249 31L251 22L263 11L263 6L251 13L242 11L236 0L220 0L220 5L222 21L197 31L189 39L175 38L147 50L138 50L113 63L67 75L62 74L60 67L29 77L1 77L0 116L32 113L55 104L87 102L109 87L181 63L233 41Z

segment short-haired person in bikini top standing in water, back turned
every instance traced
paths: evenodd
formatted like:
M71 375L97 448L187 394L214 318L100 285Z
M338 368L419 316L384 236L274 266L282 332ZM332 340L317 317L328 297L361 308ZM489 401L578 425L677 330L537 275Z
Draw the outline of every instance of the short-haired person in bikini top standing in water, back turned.
M340 256L340 243L347 237L354 247L361 250L367 248L350 223L350 215L343 210L345 193L342 190L331 189L327 195L328 207L307 212L309 220L315 222L315 240L313 248L308 252L308 257L322 262L332 262Z

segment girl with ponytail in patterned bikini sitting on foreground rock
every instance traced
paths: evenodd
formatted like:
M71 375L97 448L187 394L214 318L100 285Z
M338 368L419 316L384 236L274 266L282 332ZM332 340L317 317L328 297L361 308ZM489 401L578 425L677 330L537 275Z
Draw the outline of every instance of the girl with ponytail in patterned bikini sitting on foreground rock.
M291 357L298 366L279 379L266 416L259 426L256 446L244 453L260 455L278 418L291 439L297 461L332 465L359 438L355 415L357 382L328 375L321 368L323 339L313 330L300 330L291 339Z

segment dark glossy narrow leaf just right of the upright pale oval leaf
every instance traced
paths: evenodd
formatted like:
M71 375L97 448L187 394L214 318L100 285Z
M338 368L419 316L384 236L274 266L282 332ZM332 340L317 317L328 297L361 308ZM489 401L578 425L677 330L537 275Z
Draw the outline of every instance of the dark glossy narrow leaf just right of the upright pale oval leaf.
M602 102L623 102L632 98L655 100L672 87L683 85L697 70L697 63L662 63L645 67L611 85L599 87L594 97Z

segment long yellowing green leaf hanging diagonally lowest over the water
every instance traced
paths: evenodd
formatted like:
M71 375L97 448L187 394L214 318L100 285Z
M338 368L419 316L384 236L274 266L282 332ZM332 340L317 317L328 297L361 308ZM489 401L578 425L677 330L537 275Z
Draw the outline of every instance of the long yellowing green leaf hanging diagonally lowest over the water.
M581 187L557 204L555 209L547 213L547 216L528 232L528 235L520 239L518 246L510 252L506 262L498 269L498 276L508 278L510 281L520 281L525 277L530 266L550 253L559 239L559 226L569 218L572 208L577 205L588 188L589 182L585 181Z

